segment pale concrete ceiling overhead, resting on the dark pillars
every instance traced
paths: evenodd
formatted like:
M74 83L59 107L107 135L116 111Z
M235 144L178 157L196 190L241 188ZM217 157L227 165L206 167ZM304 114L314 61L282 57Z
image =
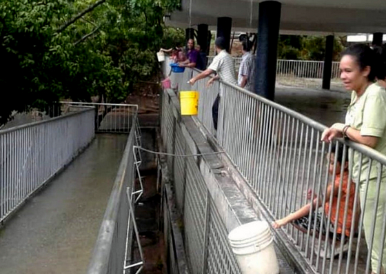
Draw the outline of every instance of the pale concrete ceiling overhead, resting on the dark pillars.
M282 0L281 3L283 34L386 33L386 0ZM258 27L255 0L183 0L182 7L181 12L174 12L170 20L166 19L168 25L188 28L207 23L215 30L217 17L232 17L232 30L256 32Z

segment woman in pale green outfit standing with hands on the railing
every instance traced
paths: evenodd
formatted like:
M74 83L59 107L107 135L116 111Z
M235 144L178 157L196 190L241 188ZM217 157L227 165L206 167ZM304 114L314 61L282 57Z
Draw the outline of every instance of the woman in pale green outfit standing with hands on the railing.
M386 155L386 90L376 82L380 73L380 60L376 51L363 44L350 46L343 52L340 63L341 79L347 90L353 90L351 103L347 108L345 124L336 123L327 128L322 134L322 141L329 142L336 137L346 137ZM349 158L352 159L352 178L359 184L367 247L372 244L372 273L385 273L386 248L382 242L382 226L386 208L386 168L383 168L378 192L376 161L370 166L369 159L363 157L360 165L360 155L356 152L351 153ZM377 208L376 215L374 208ZM371 237L374 217L376 223L374 235ZM383 258L380 258L382 249ZM380 266L378 262L381 262Z

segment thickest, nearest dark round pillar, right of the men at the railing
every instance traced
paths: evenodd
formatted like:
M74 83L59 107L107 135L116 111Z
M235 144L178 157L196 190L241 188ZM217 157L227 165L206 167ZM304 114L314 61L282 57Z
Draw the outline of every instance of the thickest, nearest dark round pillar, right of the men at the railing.
M255 91L267 99L275 97L278 31L281 3L264 1L258 4L258 40Z

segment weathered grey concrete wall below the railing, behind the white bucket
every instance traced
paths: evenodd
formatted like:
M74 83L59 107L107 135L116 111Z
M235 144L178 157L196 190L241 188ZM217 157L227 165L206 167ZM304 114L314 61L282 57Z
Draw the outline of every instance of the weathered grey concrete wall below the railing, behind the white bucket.
M256 197L247 198L243 193L240 186L249 186L237 176L236 168L225 161L225 155L218 153L220 148L210 144L205 129L194 118L181 117L179 101L172 90L163 91L161 139L167 153L192 155L161 160L168 239L165 242L169 243L170 263L179 265L173 261L177 249L180 255L184 251L185 260L185 268L179 272L171 269L171 273L187 269L190 273L240 273L227 234L241 224L261 218L254 204ZM177 240L170 241L170 237ZM281 253L278 257L281 273L295 273L295 266L287 264Z

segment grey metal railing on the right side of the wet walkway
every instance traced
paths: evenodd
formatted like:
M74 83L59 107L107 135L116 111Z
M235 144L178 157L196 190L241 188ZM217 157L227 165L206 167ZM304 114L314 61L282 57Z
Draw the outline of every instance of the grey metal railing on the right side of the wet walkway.
M138 146L138 128L136 114L130 117L130 134L123 152L121 164L114 182L108 206L103 217L99 235L96 240L94 252L88 266L88 274L131 273L136 268L136 273L143 267L143 253L141 244L138 244L140 262L133 262L132 239L135 234L139 243L139 233L134 217L134 203L141 195L135 189L136 166L140 158L135 146ZM139 195L138 197L135 197Z

